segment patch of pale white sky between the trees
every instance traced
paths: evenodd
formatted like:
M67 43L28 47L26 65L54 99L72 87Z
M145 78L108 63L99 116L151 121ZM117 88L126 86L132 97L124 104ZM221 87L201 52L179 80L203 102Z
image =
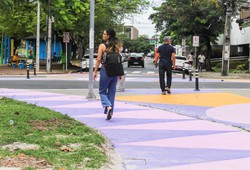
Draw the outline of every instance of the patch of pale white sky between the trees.
M154 24L149 20L149 16L155 11L152 9L153 6L160 6L163 0L150 0L150 7L145 10L142 14L135 14L131 19L125 19L125 25L133 25L139 31L139 35L148 35L149 38L156 34Z

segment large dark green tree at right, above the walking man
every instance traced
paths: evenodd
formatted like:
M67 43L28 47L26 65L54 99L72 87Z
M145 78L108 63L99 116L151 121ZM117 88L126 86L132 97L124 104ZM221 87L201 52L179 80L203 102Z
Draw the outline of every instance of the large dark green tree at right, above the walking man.
M224 5L217 0L167 0L150 18L164 35L171 35L176 44L182 38L191 45L192 36L200 36L198 51L205 50L207 70L211 70L211 44L224 30Z

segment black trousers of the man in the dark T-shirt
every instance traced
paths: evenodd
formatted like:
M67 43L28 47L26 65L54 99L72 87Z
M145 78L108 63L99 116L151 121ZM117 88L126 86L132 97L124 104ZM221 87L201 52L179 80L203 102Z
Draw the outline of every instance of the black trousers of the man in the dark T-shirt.
M167 86L165 85L165 73L167 76ZM171 87L172 83L172 64L169 63L160 63L159 64L159 78L160 78L160 87L161 91L166 91L166 87Z

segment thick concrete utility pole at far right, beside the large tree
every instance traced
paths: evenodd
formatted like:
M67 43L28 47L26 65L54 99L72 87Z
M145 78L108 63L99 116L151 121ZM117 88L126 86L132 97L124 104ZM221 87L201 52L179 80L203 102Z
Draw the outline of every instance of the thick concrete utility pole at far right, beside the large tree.
M233 13L232 0L226 0L225 3L226 3L226 19L225 19L224 43L222 52L222 68L221 68L222 76L228 76L229 73L231 16Z

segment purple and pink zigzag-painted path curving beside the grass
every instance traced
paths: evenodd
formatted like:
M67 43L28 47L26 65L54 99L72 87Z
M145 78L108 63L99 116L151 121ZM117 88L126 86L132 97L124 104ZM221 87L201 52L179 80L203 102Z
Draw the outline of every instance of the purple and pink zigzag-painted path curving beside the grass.
M185 92L180 90L180 93ZM176 106L168 105L172 110L167 111L116 102L113 119L106 121L99 100L13 89L0 89L0 96L59 111L97 129L114 145L125 169L250 169L250 134L232 126L173 113L188 112L192 109L188 106L174 109ZM203 115L209 109L196 108L195 112Z

